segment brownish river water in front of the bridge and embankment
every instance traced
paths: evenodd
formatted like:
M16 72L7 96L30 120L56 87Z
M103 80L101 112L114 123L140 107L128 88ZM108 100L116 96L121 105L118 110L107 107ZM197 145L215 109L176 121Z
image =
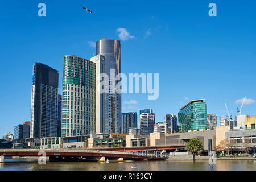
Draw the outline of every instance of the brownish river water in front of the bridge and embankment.
M136 166L136 168L131 168ZM208 160L161 160L161 161L110 161L108 164L100 162L46 162L39 165L35 159L5 159L0 163L0 171L256 171L256 160L217 160L217 164L209 166Z

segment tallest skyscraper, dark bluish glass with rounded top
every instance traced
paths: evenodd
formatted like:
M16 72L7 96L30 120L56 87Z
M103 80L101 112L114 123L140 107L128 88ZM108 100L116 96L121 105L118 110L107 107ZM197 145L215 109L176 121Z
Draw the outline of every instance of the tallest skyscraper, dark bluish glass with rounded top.
M121 43L119 40L102 39L96 42L96 55L105 57L105 73L109 76L109 93L105 99L105 133L121 132L121 94L115 92L115 85L119 80L111 78L121 73Z

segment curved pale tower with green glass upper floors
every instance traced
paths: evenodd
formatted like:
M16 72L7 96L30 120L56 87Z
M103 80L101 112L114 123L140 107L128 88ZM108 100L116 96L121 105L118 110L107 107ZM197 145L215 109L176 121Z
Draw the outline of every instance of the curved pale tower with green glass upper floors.
M95 63L77 56L64 56L61 137L96 131L95 89Z

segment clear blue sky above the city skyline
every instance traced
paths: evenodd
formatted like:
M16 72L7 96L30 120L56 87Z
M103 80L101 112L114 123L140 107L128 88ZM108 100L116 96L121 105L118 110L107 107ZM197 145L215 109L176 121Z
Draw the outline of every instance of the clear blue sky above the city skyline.
M38 16L40 2L46 17ZM208 15L211 2L217 17ZM89 59L95 48L88 42L120 40L118 28L130 35L121 40L122 72L159 73L158 100L122 94L123 112L150 108L164 122L165 114L205 98L208 113L226 115L226 102L234 116L236 100L246 96L242 114L256 114L255 9L255 1L3 1L0 136L30 120L35 61L59 70L61 93L63 56Z

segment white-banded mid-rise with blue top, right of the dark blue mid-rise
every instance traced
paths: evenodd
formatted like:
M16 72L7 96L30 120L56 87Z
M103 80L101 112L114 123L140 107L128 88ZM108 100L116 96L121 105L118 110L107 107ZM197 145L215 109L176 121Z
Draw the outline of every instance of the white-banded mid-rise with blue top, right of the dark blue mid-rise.
M140 110L139 131L140 135L149 135L154 132L155 114L152 109Z

